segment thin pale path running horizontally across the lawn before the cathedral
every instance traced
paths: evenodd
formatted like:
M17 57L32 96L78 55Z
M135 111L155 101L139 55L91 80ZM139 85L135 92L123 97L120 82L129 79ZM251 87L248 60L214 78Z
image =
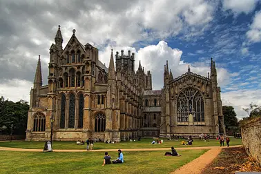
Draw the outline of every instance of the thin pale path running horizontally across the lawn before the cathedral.
M240 147L238 146L230 146ZM186 148L175 148L177 151L192 150L192 149L220 149L224 147L220 146L204 146L204 147L186 147ZM171 148L127 148L122 149L122 151L170 151ZM86 151L85 149L54 149L54 152L106 152L106 151L117 151L118 149L96 149L92 151ZM23 152L42 152L42 149L32 149L32 148L8 148L0 147L0 151L23 151Z

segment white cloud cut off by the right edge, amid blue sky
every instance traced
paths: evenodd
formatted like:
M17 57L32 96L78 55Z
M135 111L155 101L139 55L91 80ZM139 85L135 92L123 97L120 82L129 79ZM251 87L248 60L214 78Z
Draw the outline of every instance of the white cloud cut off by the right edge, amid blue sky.
M254 43L261 41L261 11L255 14L250 30L247 32L247 38Z

